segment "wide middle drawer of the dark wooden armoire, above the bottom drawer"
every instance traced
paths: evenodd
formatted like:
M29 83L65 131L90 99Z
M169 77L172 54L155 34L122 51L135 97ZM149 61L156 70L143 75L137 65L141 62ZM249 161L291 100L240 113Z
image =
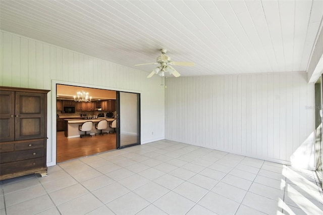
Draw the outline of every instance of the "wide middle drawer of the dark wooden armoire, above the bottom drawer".
M1 153L0 155L0 162L1 163L8 163L8 162L15 162L17 160L26 160L36 157L43 157L44 156L44 149L32 149L32 150L24 150L24 151L15 151L15 152L7 152Z

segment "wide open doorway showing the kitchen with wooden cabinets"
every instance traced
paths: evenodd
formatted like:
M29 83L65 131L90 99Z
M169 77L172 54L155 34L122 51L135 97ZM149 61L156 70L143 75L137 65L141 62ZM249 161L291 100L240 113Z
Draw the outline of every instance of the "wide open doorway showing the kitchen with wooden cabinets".
M90 101L75 101L77 92L87 92ZM56 162L84 157L118 148L117 129L108 126L100 135L95 125L107 120L111 125L117 116L117 91L57 84ZM78 130L83 121L93 121L91 137L80 138ZM74 122L74 123L69 123ZM96 135L95 135L96 134Z

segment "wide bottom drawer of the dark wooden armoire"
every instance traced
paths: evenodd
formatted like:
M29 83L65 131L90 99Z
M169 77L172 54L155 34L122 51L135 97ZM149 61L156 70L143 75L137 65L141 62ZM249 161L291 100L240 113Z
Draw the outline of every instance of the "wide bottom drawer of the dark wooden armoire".
M26 171L36 168L44 167L44 158L34 158L34 159L28 159L28 160L20 160L17 162L10 162L0 165L0 174L11 174L11 173L17 173L20 171Z

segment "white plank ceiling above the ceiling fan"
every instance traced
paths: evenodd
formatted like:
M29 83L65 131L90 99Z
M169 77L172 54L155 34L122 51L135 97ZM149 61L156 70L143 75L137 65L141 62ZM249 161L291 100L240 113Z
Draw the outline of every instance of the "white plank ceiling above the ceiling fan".
M323 1L0 1L0 28L151 72L160 48L182 76L306 71Z

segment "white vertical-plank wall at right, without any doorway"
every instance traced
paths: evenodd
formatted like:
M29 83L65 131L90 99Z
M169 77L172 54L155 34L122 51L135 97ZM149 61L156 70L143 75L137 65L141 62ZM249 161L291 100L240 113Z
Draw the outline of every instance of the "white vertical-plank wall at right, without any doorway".
M167 85L166 139L284 164L313 144L306 73L179 77Z

